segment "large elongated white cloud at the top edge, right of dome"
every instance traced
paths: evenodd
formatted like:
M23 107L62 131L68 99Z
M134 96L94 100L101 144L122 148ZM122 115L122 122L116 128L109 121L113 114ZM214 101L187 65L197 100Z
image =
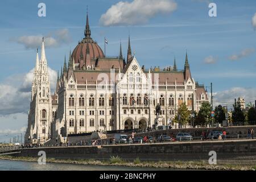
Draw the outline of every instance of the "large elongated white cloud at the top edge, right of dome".
M100 23L104 26L134 25L145 23L156 14L171 13L177 9L173 0L134 0L118 2L101 15Z

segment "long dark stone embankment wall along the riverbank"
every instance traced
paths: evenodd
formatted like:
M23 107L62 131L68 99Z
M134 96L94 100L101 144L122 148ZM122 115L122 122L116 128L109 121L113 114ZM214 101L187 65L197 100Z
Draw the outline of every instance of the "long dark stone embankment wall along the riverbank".
M209 152L215 151L218 164L256 165L256 139L26 148L14 155L38 158L39 151L55 159L109 160L111 156L119 156L128 161L139 158L142 161L203 160L207 163Z

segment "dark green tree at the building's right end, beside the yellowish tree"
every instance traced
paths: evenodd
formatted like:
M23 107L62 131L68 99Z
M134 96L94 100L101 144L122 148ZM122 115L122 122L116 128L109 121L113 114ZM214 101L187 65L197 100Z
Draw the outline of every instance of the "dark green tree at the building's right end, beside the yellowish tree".
M207 125L211 121L211 116L210 116L210 111L211 111L211 106L209 102L203 102L203 104L200 107L199 113L197 114L196 117L196 123L197 125Z

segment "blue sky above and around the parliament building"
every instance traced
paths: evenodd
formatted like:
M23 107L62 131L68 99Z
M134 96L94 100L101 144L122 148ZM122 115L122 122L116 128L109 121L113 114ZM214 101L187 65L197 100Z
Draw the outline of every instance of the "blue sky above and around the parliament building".
M119 2L115 0L43 1L46 3L46 17L38 16L38 4L42 1L1 1L0 88L6 90L8 86L11 89L17 85L28 85L24 78L34 68L36 48L26 48L19 41L24 36L56 38L56 32L65 30L68 39L59 40L55 46L46 48L49 67L54 71L60 69L64 55L68 55L69 49L75 48L84 37L88 5L92 38L102 49L104 37L108 39L106 55L118 55L120 40L123 55L126 55L129 32L131 48L139 64L146 68L172 65L176 56L178 69L183 69L187 49L192 77L205 85L213 82L214 100L217 103L231 105L233 98L238 96L245 97L247 102L255 100L256 31L252 18L256 13L256 1L166 1L176 3L176 8L170 12L159 10L146 17L146 22L131 25L124 21L112 26L104 26L100 19L112 5ZM217 17L209 17L209 2L216 3ZM230 58L232 56L233 60ZM205 63L205 59L211 64ZM0 90L0 100L6 96ZM29 100L22 102L24 109L16 109L14 101L10 101L9 105L14 104L10 111L1 109L5 106L0 107L0 133L26 127ZM19 115L22 121L17 119L13 123L15 115Z

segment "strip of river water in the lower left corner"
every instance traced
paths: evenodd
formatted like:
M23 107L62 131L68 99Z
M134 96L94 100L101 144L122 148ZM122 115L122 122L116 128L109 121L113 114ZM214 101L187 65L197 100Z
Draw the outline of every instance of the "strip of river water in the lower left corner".
M115 167L115 166L93 166L82 164L57 164L46 163L39 165L36 162L21 162L0 159L0 171L136 171L136 170L170 170L163 168L139 168L139 167ZM174 169L171 169L174 170Z

